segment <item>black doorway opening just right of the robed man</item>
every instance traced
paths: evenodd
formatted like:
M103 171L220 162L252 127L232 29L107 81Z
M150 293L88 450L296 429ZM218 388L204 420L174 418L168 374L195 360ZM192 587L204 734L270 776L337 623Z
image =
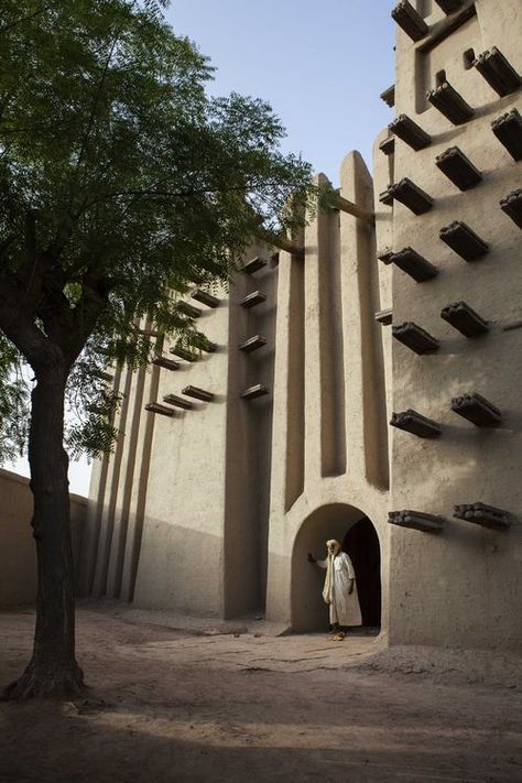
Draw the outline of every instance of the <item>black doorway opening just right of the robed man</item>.
M381 547L368 516L351 525L342 541L342 550L348 553L356 572L362 624L380 627Z

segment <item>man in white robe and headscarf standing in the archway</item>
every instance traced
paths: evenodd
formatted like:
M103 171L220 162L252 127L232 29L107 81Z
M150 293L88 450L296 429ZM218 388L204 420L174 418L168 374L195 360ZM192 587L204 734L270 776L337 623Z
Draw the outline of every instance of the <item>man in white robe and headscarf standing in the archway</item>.
M361 626L361 610L357 595L356 574L351 561L346 552L340 551L340 544L335 539L326 542L327 557L316 561L308 552L308 562L315 563L319 568L326 568L323 598L329 605L330 626L334 639L345 637L344 628Z

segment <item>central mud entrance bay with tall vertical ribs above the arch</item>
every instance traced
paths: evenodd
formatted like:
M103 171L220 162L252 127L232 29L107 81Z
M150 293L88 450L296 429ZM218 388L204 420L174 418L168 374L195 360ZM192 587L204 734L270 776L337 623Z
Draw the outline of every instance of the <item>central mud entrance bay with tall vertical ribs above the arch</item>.
M319 176L319 181L326 177ZM341 195L370 211L372 181L358 153L341 167ZM388 433L374 230L319 213L304 259L281 253L269 540L269 619L326 628L320 578L306 562L367 515L380 540L382 626L388 595Z

